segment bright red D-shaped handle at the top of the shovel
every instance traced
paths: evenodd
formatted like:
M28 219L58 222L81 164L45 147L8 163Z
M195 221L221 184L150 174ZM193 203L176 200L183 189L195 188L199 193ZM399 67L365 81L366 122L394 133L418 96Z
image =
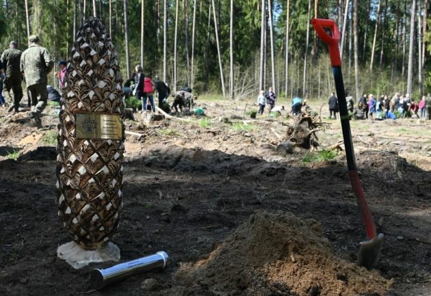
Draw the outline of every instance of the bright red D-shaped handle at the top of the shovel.
M338 49L338 40L340 39L340 32L335 21L326 20L323 18L313 18L311 21L317 35L323 42L329 46L330 64L332 67L341 66L340 51ZM326 33L324 28L330 29L332 36Z

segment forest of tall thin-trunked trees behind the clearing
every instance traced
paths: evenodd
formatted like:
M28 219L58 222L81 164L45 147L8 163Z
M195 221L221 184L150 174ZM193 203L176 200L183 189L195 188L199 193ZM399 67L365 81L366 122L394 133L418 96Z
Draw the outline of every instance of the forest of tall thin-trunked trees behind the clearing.
M38 34L57 62L89 16L112 36L123 79L135 65L177 89L254 98L327 98L334 91L314 17L341 31L346 91L413 98L431 92L428 0L0 0L0 49ZM55 83L50 75L51 83Z

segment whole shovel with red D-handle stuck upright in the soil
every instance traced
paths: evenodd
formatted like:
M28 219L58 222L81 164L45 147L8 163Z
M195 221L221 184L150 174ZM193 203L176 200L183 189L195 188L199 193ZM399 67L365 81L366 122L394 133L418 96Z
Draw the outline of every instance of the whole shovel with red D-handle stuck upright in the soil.
M380 249L383 243L383 234L377 234L376 226L374 225L373 218L369 212L367 201L365 200L364 191L359 180L358 170L356 169L356 160L354 157L352 134L350 133L350 116L345 101L343 75L341 73L341 58L338 49L338 40L340 37L339 30L335 21L326 20L322 18L314 18L311 21L317 35L323 42L328 44L330 64L332 66L332 73L335 80L335 90L337 90L341 130L343 131L343 140L345 148L345 157L348 163L348 170L350 176L350 184L352 185L356 202L358 203L359 212L365 231L367 232L367 241L361 241L361 248L358 254L357 264L367 267L368 269L374 267L377 263ZM329 29L331 36L324 29Z

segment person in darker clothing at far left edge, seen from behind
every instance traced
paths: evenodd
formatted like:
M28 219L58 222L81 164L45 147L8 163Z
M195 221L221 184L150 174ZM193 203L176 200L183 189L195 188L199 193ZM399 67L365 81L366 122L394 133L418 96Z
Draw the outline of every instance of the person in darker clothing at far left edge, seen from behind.
M21 51L17 49L17 44L15 41L11 41L9 44L9 49L6 49L1 54L0 60L3 63L6 70L6 80L5 80L5 94L8 96L10 102L9 112L19 111L19 104L21 98L23 98L23 88L21 87L21 82L23 76L21 75L20 61L21 61ZM14 92L14 99L10 95L10 90Z

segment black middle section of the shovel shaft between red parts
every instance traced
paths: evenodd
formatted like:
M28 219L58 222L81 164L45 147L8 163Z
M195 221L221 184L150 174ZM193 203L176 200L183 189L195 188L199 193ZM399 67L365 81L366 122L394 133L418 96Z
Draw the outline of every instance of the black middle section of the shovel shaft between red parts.
M338 105L341 119L341 131L343 131L343 140L345 148L345 157L348 162L348 170L356 170L356 160L354 157L352 133L350 132L350 116L347 109L347 102L345 101L343 73L341 66L332 67L334 74L335 90L337 91Z

